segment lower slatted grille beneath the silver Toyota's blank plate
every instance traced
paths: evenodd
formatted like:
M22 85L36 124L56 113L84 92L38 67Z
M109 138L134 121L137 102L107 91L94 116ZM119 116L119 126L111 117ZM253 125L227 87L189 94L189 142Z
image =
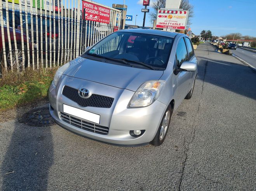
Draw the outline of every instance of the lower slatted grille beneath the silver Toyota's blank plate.
M66 113L61 112L61 119L64 122L69 123L77 128L83 129L83 130L91 131L94 133L99 133L102 135L108 134L108 127L100 126L100 125L94 124L94 123L89 123L88 121L84 121L83 119L71 116Z

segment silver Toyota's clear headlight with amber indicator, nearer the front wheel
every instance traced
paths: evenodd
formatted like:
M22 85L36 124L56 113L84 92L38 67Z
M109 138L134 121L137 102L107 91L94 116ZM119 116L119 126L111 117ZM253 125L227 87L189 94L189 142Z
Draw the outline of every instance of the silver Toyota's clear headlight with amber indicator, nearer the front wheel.
M165 81L148 81L132 96L129 107L146 107L152 104L164 88Z

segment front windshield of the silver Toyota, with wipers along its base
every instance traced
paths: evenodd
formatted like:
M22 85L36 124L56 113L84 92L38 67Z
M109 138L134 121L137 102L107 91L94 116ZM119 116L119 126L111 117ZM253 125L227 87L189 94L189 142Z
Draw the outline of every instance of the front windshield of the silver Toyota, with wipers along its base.
M120 31L107 36L82 56L95 60L104 57L114 64L122 61L129 67L163 70L172 42L173 38L165 36Z

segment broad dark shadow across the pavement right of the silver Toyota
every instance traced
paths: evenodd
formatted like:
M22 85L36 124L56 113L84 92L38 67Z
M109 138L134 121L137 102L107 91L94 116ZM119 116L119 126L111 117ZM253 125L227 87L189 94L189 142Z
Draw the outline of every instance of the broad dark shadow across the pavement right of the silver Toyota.
M233 62L199 58L197 79L230 90L236 94L256 99L256 72Z

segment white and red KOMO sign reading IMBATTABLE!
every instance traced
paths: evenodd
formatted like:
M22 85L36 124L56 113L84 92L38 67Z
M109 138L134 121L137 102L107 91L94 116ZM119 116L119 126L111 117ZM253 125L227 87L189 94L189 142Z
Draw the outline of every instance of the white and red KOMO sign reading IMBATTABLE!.
M185 30L187 20L187 10L158 10L156 27Z

